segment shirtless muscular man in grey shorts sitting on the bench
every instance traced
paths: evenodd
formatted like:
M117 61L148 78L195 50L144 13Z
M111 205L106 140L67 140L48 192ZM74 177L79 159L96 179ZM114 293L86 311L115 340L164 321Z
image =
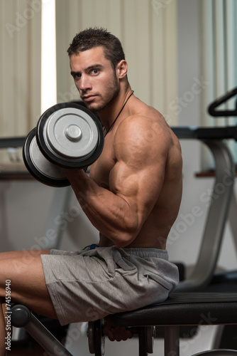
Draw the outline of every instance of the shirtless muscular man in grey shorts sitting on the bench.
M64 171L99 231L98 246L31 251L31 258L26 251L0 255L2 305L5 281L11 280L14 302L62 325L167 298L178 273L165 246L182 196L180 143L160 112L133 94L118 38L89 28L67 52L82 100L104 125L104 150L90 176L82 169ZM4 311L0 329L4 335ZM110 328L106 333L116 338Z

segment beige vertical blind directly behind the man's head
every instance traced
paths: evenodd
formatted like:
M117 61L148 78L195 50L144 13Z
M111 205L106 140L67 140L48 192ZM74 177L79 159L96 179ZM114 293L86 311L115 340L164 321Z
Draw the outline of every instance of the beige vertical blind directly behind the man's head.
M78 100L70 78L67 48L76 33L105 27L121 40L128 61L128 80L135 95L165 115L177 98L176 0L57 0L57 100Z

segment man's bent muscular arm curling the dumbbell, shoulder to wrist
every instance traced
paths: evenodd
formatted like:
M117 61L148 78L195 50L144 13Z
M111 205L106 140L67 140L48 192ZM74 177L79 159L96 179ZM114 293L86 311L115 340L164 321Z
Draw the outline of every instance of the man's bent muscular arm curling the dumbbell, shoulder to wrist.
M136 239L163 184L168 138L158 123L149 121L129 117L119 125L110 190L99 187L83 170L65 172L89 220L118 247Z

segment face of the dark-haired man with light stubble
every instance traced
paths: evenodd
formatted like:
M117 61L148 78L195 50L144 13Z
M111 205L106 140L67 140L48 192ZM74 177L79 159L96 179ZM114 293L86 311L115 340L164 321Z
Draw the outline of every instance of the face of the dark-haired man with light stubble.
M70 56L70 68L79 94L92 111L103 109L119 92L119 80L99 46Z

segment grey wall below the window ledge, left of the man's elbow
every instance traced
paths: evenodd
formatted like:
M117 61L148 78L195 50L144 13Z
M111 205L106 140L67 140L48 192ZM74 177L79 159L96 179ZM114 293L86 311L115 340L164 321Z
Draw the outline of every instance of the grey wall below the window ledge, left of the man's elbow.
M97 242L98 232L72 192L68 206L52 210L55 199L60 202L63 197L63 189L47 187L33 179L0 181L0 251L48 248L57 233L62 234L60 248L65 250Z

